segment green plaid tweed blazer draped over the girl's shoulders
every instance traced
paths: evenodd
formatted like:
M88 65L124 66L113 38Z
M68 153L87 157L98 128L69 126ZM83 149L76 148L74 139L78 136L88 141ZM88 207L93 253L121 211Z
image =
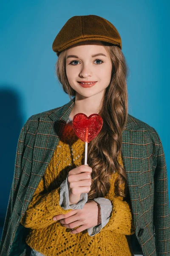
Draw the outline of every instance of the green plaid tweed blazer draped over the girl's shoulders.
M20 224L51 160L75 98L62 107L35 114L23 126L17 144L0 256L29 256L28 228ZM122 132L135 238L144 256L170 256L170 208L167 166L156 130L128 114Z

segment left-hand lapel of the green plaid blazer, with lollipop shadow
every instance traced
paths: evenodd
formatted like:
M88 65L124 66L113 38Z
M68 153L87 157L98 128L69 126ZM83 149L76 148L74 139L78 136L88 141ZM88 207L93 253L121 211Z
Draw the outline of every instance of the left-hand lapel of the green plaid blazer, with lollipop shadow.
M59 142L59 137L74 106L74 98L52 113L40 117L33 150L31 178L24 198L21 216L24 215Z

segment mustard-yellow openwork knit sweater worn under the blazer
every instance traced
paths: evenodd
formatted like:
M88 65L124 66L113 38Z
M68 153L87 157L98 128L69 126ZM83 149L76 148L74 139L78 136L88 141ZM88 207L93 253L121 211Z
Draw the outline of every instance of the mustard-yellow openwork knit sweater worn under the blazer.
M71 211L59 205L60 185L71 169L84 164L84 152L85 142L76 136L68 123L20 221L30 228L26 243L45 256L131 256L126 235L135 233L135 228L129 204L114 194L117 172L113 173L111 188L105 196L113 204L111 218L98 234L91 237L87 230L70 234L68 228L52 219ZM118 160L123 166L121 156Z

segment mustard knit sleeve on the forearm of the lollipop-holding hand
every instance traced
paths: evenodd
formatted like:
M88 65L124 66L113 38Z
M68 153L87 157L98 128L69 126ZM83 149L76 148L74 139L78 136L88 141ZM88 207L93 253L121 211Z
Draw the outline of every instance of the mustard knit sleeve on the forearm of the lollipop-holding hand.
M59 204L60 187L51 192L44 192L43 177L34 192L33 198L28 205L20 223L27 228L40 229L54 223L53 217L66 214L72 209L63 209Z

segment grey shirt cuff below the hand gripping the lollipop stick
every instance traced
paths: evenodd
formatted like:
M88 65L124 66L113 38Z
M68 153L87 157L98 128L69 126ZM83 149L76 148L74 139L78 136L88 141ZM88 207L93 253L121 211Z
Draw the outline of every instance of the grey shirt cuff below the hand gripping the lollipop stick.
M77 204L69 205L69 192L68 192L68 175L66 179L60 185L60 194L59 194L59 205L64 210L68 209L82 209L85 203L88 201L88 193L82 193L80 200Z

